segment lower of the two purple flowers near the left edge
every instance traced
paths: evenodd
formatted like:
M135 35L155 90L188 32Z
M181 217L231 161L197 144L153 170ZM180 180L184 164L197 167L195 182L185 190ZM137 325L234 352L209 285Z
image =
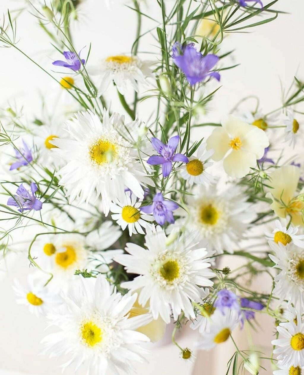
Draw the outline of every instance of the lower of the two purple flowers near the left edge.
M31 193L21 184L16 191L17 195L14 195L14 198L10 197L7 204L19 207L18 211L20 212L25 210L39 211L42 208L42 202L35 196L37 190L37 185L34 182L31 183Z

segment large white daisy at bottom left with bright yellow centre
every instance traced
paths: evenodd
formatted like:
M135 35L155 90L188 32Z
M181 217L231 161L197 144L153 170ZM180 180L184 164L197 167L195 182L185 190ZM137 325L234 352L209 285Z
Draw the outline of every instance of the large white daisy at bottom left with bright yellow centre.
M75 283L76 284L76 283ZM69 356L63 365L73 365L91 375L134 372L132 362L143 362L147 336L136 329L151 320L151 314L129 317L136 293L131 296L112 293L103 276L78 279L69 293L63 294L58 313L48 314L49 323L57 332L42 342L51 357Z

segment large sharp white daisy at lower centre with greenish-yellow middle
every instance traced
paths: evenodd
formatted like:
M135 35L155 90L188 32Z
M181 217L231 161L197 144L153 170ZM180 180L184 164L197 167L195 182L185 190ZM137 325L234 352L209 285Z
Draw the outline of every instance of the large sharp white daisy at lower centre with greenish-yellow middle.
M212 286L214 274L205 249L193 249L193 236L181 237L166 246L166 235L159 226L156 231L147 229L147 249L134 243L127 243L126 252L115 261L125 266L128 273L140 276L123 282L121 287L131 291L139 290L138 303L145 306L150 301L153 318L160 315L170 323L171 309L174 320L181 311L187 318L195 317L191 300L200 298L200 286Z

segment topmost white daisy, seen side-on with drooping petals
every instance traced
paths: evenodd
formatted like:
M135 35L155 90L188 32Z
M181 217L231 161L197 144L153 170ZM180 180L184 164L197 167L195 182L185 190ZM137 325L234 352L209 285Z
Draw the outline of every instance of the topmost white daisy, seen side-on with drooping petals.
M88 69L92 76L96 76L96 86L100 93L104 93L109 84L114 81L121 94L133 87L139 92L139 85L147 85L147 77L153 77L150 69L153 62L142 61L136 56L109 56L99 62L97 66Z

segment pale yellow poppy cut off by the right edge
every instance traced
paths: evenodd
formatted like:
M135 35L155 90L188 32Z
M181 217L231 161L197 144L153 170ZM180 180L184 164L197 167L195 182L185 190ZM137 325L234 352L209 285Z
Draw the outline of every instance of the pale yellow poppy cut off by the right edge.
M300 180L300 169L295 165L285 165L277 168L269 175L268 185L271 187L267 196L273 203L271 208L279 217L292 217L294 225L304 226L302 211L304 201L301 195L297 194L297 187Z

